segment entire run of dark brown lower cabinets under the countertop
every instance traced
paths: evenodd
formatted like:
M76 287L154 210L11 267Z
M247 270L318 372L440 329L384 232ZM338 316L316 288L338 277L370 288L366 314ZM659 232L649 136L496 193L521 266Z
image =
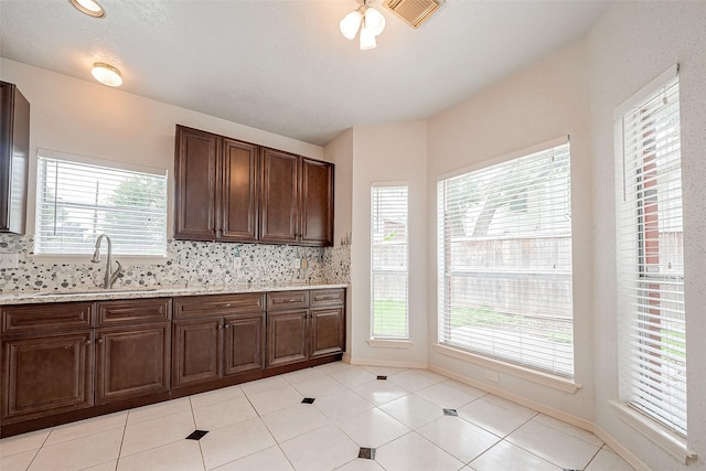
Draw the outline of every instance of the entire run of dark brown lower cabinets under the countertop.
M344 306L344 289L0 306L0 437L340 360Z

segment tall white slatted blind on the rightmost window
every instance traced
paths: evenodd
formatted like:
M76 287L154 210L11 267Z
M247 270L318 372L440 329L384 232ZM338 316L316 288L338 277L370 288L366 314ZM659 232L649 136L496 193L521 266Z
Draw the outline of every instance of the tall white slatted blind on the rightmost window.
M618 164L621 395L686 436L686 344L678 77L625 111Z

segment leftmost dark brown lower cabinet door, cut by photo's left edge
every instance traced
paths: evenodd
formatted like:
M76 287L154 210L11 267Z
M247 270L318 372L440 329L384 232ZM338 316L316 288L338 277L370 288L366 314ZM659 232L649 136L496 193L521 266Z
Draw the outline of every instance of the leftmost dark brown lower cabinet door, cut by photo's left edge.
M93 332L2 339L2 419L93 405Z

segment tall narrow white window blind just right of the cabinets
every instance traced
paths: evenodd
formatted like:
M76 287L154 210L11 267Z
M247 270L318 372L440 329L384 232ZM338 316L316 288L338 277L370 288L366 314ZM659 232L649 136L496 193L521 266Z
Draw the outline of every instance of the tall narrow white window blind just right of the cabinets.
M371 335L408 339L407 186L375 185L371 202Z

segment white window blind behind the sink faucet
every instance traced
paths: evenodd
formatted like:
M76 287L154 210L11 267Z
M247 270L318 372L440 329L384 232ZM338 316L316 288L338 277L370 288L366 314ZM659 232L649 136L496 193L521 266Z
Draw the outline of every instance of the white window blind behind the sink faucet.
M167 255L167 174L38 158L35 254Z

